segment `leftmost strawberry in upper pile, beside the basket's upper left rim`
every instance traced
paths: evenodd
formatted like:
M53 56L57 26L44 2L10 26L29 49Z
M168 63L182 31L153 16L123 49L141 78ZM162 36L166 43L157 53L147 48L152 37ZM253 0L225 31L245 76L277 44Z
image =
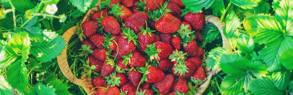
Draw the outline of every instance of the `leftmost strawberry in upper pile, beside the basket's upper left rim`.
M97 32L99 29L98 22L87 20L82 24L82 29L84 31L84 36L89 37Z

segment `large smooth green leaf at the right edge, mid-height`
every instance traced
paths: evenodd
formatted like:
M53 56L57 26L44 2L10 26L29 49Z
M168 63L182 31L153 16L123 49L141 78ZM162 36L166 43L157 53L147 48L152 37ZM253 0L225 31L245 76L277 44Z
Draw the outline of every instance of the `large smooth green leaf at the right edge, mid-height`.
M291 37L276 39L263 48L261 56L269 71L275 71L281 68L281 63L278 58L282 52L289 48L293 48L293 39Z

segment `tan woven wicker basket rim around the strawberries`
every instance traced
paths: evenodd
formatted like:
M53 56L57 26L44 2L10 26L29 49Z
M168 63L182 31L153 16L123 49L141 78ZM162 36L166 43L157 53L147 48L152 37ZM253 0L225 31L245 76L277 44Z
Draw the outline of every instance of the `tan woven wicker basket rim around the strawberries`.
M94 13L99 11L98 6L99 6L100 2L101 1L99 0L98 3L96 4L97 7L92 8L91 10L87 11L82 23L84 21L88 20ZM227 38L223 34L223 27L224 27L225 23L221 23L221 19L216 16L209 15L209 16L205 16L205 18L206 18L206 23L213 23L221 32L221 36L223 39L223 47L226 49L232 50L232 48L230 47L230 43L227 41ZM76 30L77 30L77 26L74 26L63 33L62 37L64 38L65 43L67 45L68 45L70 38L75 34ZM80 38L80 40L82 41L83 38ZM75 75L73 75L72 71L70 70L68 62L67 62L67 53L66 53L67 45L63 49L63 52L61 53L61 55L57 57L58 65L59 65L62 73L70 82L81 86L84 89L84 91L86 92L86 94L93 95L95 93L95 88L92 85L92 78L88 79L87 76L85 74L83 74L81 79L78 79L75 77ZM207 61L206 57L204 57L203 60ZM209 82L210 82L211 77L216 75L219 71L221 71L221 69L218 69L218 68L211 70L207 66L205 66L204 69L206 72L207 80L199 88L196 89L197 93L195 95L203 95L203 93L209 87Z

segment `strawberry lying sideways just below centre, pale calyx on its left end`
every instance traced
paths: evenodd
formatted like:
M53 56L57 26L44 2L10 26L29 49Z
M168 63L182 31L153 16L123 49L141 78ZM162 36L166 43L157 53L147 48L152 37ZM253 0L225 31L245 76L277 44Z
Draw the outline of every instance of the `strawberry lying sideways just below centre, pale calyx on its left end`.
M144 67L146 66L146 58L141 55L138 51L134 51L126 56L122 56L125 60L123 64L128 64L133 67Z

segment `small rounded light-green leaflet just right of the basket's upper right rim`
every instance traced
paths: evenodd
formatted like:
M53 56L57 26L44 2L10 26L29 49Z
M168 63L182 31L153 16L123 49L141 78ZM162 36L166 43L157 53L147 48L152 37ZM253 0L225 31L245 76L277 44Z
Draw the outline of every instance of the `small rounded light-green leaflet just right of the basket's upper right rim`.
M245 54L250 54L254 49L253 39L244 33L240 33L240 37L237 40L237 49Z

